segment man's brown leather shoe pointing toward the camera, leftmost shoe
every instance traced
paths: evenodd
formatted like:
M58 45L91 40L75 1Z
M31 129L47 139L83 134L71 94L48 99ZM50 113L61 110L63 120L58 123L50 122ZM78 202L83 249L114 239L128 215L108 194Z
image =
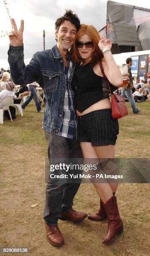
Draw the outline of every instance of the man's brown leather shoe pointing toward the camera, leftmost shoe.
M47 240L53 246L62 246L64 244L63 236L61 235L61 231L58 228L58 225L46 226Z

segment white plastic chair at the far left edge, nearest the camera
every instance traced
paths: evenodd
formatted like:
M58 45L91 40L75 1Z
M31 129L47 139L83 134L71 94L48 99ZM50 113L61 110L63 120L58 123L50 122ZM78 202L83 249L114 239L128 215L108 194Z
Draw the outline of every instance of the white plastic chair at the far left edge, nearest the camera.
M8 110L8 113L10 115L10 120L13 122L9 106L13 102L13 97L14 96L8 96L4 97L3 99L0 100L0 123L3 124L3 115L4 115L4 110Z

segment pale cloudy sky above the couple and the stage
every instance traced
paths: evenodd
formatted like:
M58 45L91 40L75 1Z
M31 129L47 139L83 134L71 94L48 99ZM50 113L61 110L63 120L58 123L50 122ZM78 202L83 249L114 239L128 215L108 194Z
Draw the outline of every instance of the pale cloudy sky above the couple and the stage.
M36 51L43 50L43 30L46 49L56 44L55 21L71 9L81 23L93 25L99 31L106 24L107 0L6 0L10 16L18 28L20 20L25 22L23 32L25 59L30 59ZM115 2L150 8L149 0L116 0ZM0 36L11 31L11 23L3 0L0 0ZM0 37L0 59L8 58L8 36Z

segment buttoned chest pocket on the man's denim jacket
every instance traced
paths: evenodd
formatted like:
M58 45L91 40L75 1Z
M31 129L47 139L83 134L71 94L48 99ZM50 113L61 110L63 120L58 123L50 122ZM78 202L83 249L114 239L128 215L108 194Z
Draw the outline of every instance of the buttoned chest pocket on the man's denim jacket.
M44 90L46 92L53 92L57 89L59 73L43 70Z

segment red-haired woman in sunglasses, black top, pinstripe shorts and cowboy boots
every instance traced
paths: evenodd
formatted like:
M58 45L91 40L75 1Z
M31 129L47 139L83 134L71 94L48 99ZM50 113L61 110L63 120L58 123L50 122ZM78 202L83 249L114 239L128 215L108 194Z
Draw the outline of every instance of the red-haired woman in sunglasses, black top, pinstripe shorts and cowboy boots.
M102 61L104 73L114 87L122 85L122 75L111 54L111 47L111 41L100 40L93 26L80 26L74 41L72 58L77 63L82 63L75 72L73 90L77 88L77 141L80 141L84 159L114 158L114 145L119 132L118 120L112 119L109 90L99 66ZM109 219L108 233L102 241L109 243L123 231L117 199L114 196L118 184L107 181L93 183L100 197L100 208L89 218Z

